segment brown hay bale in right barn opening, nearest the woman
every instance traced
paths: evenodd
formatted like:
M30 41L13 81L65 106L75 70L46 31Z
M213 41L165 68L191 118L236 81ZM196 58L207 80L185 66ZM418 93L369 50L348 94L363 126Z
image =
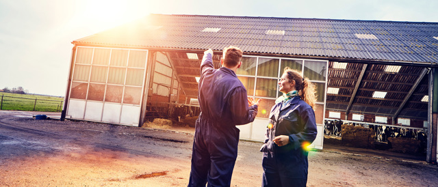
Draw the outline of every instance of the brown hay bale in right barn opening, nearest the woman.
M361 126L342 125L341 142L351 147L374 149L374 130Z

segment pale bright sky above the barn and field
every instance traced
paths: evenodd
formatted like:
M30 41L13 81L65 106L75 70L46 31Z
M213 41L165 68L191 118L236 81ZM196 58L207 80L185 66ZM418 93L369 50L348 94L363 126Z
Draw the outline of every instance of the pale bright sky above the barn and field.
M0 89L65 96L73 40L149 14L438 23L434 0L0 0Z

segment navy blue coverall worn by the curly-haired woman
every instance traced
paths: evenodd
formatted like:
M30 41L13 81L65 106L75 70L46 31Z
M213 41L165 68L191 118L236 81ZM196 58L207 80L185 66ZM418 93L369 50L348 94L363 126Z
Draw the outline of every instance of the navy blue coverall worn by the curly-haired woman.
M299 96L284 105L283 102L272 106L269 115L272 126L268 126L265 144L260 149L263 152L262 186L306 186L309 164L302 143L315 140L318 133L315 113ZM272 139L279 135L289 136L289 143L276 145Z

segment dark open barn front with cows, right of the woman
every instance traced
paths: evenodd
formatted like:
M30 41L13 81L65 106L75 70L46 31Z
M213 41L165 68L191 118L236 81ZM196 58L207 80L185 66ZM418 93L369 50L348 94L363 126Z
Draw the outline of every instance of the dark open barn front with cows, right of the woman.
M431 77L425 67L331 61L324 136L425 158Z

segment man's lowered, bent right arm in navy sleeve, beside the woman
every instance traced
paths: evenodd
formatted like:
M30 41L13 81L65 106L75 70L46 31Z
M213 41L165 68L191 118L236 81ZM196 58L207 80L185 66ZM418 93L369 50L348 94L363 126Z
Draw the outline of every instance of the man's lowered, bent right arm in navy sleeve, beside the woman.
M248 96L246 89L236 87L231 93L229 100L231 107L231 116L237 125L244 125L253 122L257 115L257 105L248 106Z

